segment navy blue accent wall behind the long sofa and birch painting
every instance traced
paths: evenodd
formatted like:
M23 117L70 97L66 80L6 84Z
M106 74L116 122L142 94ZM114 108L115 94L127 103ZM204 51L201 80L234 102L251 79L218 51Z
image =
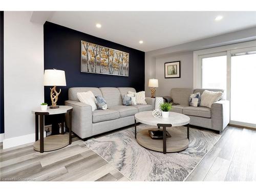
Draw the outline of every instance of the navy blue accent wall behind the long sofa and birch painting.
M81 73L81 40L129 53L129 77ZM67 87L57 87L57 90L61 88L59 105L68 100L70 87L133 87L136 91L144 90L144 52L50 22L44 25L44 60L45 69L55 68L66 72ZM45 87L45 102L51 104L49 87Z

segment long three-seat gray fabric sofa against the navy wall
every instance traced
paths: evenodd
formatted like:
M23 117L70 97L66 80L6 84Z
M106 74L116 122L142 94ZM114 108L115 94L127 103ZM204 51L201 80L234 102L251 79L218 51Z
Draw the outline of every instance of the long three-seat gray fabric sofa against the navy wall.
M77 93L86 91L102 96L108 109L92 111L91 105L80 102ZM134 124L136 113L155 109L155 99L150 97L146 97L147 104L122 105L121 94L127 94L128 91L136 92L134 88L70 88L69 100L65 104L73 106L72 131L82 139L88 138ZM66 122L69 125L68 118Z

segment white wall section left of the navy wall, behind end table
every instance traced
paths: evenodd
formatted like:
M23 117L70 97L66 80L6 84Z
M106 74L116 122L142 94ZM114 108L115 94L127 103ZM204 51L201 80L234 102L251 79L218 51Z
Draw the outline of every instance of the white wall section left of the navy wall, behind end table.
M44 28L30 17L4 12L4 148L34 141L31 110L44 102Z

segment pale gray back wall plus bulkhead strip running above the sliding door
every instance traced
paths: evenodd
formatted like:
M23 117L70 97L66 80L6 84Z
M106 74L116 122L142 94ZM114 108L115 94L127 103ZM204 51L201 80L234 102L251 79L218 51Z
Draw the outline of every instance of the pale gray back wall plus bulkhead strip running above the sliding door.
M174 87L193 88L193 51L219 47L256 40L256 27L244 29L236 32L226 33L210 38L187 42L185 44L149 51L145 53L145 94L151 96L148 88L148 79L157 78L159 88L156 90L157 96L170 94L170 89ZM190 52L190 53L189 53ZM181 60L181 78L164 79L163 63L167 61ZM191 79L192 78L192 79ZM190 82L191 80L191 82ZM163 83L163 84L162 84ZM165 87L166 86L166 87Z

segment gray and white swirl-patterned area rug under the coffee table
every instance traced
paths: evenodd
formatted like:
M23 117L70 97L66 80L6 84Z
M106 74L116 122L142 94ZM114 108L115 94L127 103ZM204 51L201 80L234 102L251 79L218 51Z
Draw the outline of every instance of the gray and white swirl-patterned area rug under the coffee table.
M156 128L140 124L140 129ZM184 132L186 127L172 127ZM134 127L84 142L131 181L184 181L220 139L211 131L190 128L188 148L179 153L154 152L137 143Z

